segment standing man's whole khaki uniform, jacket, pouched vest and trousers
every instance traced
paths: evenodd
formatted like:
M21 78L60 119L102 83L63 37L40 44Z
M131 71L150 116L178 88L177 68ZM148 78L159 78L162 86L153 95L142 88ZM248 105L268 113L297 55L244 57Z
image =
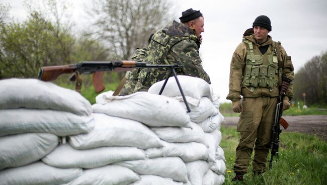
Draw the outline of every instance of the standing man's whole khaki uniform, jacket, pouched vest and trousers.
M262 54L259 47L267 45L268 50ZM234 163L236 174L248 171L254 146L253 171L266 171L281 76L292 80L284 99L289 101L293 98L293 70L291 57L286 54L280 42L274 42L269 35L261 45L256 42L253 34L243 36L243 42L235 49L230 64L229 94L226 99L236 102L241 99L240 95L244 97L241 103L243 112L237 124L240 138Z

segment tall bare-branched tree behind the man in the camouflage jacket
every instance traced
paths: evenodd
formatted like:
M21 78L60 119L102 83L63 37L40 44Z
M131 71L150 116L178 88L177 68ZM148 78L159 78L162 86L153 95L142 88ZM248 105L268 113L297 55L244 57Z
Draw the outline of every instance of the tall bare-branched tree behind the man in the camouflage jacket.
M171 2L165 0L94 0L93 4L94 34L124 60L136 48L145 47L149 36L174 17L168 11Z

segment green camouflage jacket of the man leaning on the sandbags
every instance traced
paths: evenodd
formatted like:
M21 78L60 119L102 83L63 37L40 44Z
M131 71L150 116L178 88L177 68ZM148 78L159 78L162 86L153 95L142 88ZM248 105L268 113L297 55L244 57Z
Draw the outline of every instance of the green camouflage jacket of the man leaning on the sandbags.
M171 25L158 30L147 47L143 62L147 64L176 64L182 67L176 69L178 75L200 77L210 83L208 74L202 68L199 56L200 42L194 31L182 23L174 21ZM142 69L136 91L147 91L155 82L166 79L167 68Z

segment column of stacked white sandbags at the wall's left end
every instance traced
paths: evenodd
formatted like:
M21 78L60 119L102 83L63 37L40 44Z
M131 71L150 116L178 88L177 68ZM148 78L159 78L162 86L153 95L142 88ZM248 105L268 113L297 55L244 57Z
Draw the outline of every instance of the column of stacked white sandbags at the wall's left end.
M91 104L73 90L37 79L0 80L0 184L63 184L81 168L57 168L40 159L58 136L90 132Z

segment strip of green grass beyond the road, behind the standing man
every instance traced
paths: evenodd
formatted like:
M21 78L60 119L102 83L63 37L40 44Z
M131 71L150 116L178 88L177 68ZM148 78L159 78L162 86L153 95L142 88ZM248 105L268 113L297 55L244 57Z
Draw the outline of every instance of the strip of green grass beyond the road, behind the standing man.
M299 108L296 106L283 111L283 116L300 116L300 115L327 115L327 107L322 105L308 106L303 109L303 102L300 102ZM231 103L220 104L219 111L224 117L237 117L239 113L234 113L231 109Z

